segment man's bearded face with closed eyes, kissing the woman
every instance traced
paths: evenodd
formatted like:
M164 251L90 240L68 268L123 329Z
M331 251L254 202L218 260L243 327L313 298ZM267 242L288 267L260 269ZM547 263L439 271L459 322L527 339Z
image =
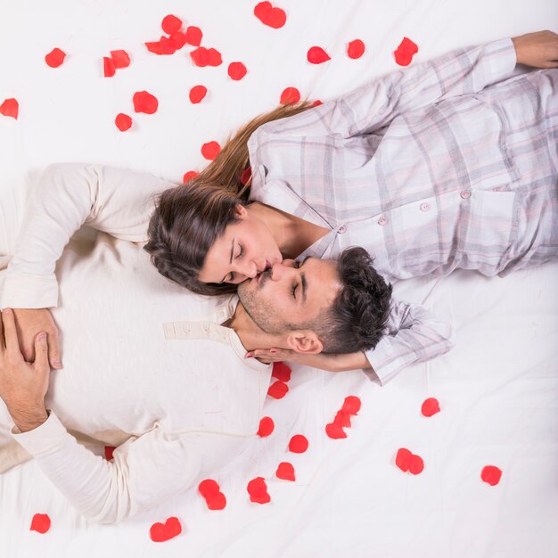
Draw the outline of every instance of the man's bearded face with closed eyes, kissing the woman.
M307 329L325 308L331 308L341 290L337 263L307 258L300 265L284 259L238 286L249 316L264 332Z

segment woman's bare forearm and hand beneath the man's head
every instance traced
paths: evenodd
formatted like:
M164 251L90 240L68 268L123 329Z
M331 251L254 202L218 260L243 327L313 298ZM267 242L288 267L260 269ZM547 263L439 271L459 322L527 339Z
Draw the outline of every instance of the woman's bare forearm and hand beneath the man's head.
M370 368L370 363L365 353L349 354L324 354L308 355L297 353L289 349L255 349L246 354L246 357L255 357L259 361L269 364L272 362L295 362L300 365L327 370L328 372L344 372L345 370L356 370L357 368ZM249 358L250 358L249 357Z

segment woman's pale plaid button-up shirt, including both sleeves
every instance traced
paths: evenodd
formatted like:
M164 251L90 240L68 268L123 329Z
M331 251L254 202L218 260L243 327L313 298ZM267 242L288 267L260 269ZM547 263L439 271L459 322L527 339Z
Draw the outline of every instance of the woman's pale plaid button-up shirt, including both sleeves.
M462 49L258 128L250 198L331 229L303 256L363 246L388 281L505 275L558 252L558 70L513 75L511 39ZM393 303L366 357L381 382L453 345Z

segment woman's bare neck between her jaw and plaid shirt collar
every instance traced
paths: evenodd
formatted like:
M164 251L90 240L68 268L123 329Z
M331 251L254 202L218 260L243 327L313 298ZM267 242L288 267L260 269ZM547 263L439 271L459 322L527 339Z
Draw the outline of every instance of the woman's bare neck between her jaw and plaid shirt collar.
M329 233L329 229L323 226L314 225L259 201L251 203L248 210L266 224L284 258L297 258L314 242Z

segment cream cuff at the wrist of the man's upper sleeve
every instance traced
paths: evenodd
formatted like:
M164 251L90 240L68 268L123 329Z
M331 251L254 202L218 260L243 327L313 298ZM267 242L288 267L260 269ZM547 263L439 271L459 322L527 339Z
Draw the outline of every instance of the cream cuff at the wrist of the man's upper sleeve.
M58 306L56 275L23 275L5 278L0 308L55 308Z

